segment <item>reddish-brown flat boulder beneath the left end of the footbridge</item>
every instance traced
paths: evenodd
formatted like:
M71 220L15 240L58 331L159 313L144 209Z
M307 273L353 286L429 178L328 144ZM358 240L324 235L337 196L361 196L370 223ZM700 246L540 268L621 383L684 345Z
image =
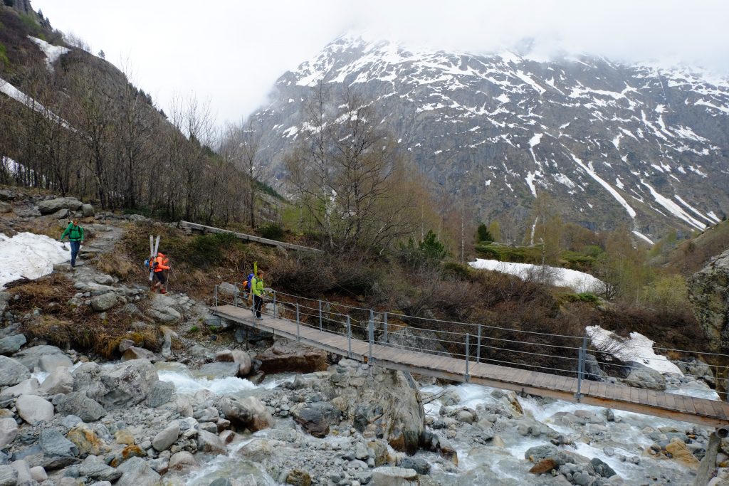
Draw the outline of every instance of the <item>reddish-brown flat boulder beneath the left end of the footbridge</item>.
M265 373L319 372L327 369L327 352L295 341L278 340L256 356Z

